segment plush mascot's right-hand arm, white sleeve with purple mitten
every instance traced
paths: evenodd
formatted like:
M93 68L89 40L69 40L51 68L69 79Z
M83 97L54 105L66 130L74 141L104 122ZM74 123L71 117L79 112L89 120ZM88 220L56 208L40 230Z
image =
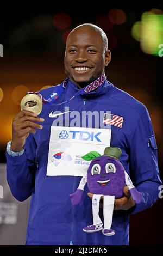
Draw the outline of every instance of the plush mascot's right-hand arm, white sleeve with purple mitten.
M127 172L124 172L124 174L125 174L126 185L128 186L128 189L131 193L131 197L133 198L133 200L136 204L141 203L142 202L142 194L136 190L136 188L134 187L133 182L131 181Z

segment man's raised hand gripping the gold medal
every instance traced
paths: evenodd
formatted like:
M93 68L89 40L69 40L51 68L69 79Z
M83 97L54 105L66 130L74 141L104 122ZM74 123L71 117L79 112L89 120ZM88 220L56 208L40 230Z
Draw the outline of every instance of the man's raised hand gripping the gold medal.
M26 142L26 138L30 133L35 133L36 128L42 129L42 125L36 124L35 122L43 122L44 119L37 117L37 114L22 110L15 115L12 120L12 142L11 150L19 152L23 149Z

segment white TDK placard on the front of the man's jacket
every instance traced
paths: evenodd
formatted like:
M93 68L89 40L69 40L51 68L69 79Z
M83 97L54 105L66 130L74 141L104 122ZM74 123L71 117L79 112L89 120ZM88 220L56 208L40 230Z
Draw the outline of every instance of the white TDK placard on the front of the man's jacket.
M90 161L82 156L90 151L103 155L110 139L110 129L52 126L47 176L84 176Z

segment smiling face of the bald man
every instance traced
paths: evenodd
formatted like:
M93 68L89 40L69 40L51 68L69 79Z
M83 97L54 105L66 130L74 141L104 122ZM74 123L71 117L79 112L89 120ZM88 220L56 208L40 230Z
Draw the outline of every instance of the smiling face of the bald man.
M66 42L65 71L71 81L84 87L104 72L110 61L101 35L90 28L73 31Z

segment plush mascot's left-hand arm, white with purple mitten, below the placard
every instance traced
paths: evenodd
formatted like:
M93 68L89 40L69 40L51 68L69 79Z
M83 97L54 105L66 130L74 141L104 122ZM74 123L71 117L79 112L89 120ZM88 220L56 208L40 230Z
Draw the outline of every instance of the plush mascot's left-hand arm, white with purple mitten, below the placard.
M78 205L80 203L80 201L82 200L86 182L87 182L87 175L84 176L82 178L82 180L80 181L79 187L77 188L76 192L74 192L73 194L70 194L72 205Z

